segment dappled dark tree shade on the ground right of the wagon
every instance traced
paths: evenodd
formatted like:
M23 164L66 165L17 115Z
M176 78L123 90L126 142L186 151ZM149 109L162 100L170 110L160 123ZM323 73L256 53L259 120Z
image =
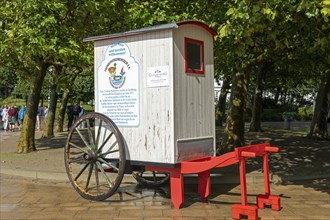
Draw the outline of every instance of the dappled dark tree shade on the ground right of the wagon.
M274 126L275 125L275 126ZM291 130L284 130L281 123L265 123L264 132L245 132L246 145L269 142L279 147L278 153L269 154L269 170L279 179L276 184L301 184L330 194L330 140L306 138L309 122L297 122ZM217 128L217 142L221 141L223 127ZM227 169L227 170L226 170ZM246 171L262 172L262 158L246 160ZM235 172L238 167L225 168L224 173ZM274 177L273 176L273 177ZM296 181L297 179L306 181ZM315 180L309 180L315 179Z

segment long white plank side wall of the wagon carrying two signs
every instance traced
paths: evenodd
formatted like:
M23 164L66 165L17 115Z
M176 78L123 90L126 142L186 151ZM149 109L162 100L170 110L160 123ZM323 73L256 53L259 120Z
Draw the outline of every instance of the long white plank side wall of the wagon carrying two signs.
M172 30L165 30L95 42L95 73L107 47L116 41L128 45L140 66L140 125L119 127L127 143L128 160L174 163L172 40ZM147 70L157 66L169 66L169 86L149 88ZM98 112L98 94L95 94L95 100Z

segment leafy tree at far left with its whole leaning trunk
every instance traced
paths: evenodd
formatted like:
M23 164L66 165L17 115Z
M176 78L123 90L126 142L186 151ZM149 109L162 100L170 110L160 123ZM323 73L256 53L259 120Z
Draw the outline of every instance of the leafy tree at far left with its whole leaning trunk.
M0 52L4 54L1 62L7 66L15 66L18 73L31 82L17 152L36 150L36 112L48 67L63 63L80 64L90 58L90 55L84 54L85 47L71 38L81 32L70 26L72 23L65 22L70 17L67 3L6 1L0 9L6 20L6 32L1 35Z

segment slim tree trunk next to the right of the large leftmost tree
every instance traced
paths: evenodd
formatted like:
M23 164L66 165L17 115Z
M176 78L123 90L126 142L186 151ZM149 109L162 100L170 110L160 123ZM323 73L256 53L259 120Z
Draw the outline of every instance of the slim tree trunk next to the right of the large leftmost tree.
M54 122L55 122L55 113L56 113L56 104L57 104L57 84L54 82L53 77L52 84L50 86L50 103L48 108L48 116L45 118L46 124L43 129L43 138L53 138L54 137Z

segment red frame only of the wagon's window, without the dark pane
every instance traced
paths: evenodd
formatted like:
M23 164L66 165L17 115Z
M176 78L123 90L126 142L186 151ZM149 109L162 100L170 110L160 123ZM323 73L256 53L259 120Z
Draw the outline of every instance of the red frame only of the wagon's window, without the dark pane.
M199 69L192 69L188 67L188 43L197 44L201 49L201 67ZM204 74L204 42L200 40L184 38L184 69L186 73Z

